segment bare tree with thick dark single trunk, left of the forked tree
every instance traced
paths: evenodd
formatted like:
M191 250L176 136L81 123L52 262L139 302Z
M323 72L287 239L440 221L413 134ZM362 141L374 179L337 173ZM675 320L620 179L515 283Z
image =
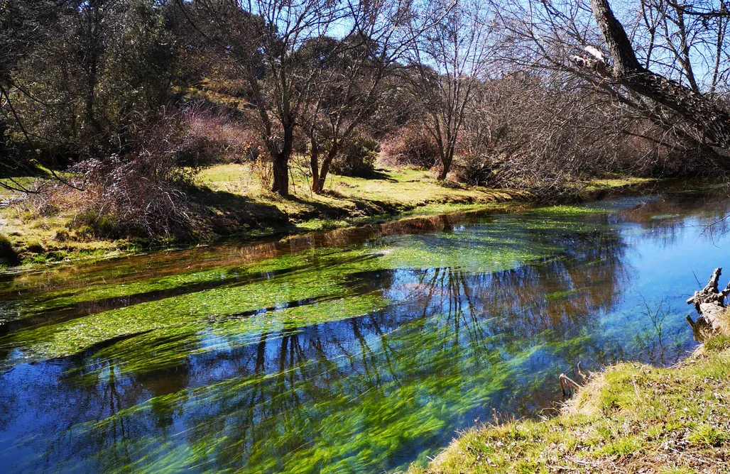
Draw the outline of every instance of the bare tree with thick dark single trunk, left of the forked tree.
M346 5L329 0L178 0L178 4L245 80L272 158L272 190L287 196L295 128L317 79L305 67L302 47L335 36L344 25ZM318 53L328 56L334 51Z

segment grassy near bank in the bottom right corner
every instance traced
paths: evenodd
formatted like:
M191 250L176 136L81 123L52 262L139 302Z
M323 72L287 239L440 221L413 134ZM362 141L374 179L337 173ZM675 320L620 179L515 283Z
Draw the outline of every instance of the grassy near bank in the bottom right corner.
M409 473L727 473L729 466L730 338L719 336L673 368L612 365L558 416L469 430Z

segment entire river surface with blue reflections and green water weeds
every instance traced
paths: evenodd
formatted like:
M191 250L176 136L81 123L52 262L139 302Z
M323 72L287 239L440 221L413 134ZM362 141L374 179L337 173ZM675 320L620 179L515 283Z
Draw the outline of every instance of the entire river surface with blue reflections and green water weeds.
M727 201L451 214L4 276L0 466L427 462L481 421L554 413L579 362L684 357L685 299L730 264L723 222L707 226Z

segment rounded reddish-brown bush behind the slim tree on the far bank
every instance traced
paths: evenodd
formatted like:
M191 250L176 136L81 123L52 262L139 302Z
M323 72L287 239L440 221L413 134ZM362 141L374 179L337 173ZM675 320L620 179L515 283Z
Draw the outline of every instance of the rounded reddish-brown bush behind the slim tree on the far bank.
M383 158L391 165L430 169L439 160L439 147L425 130L408 126L385 140Z

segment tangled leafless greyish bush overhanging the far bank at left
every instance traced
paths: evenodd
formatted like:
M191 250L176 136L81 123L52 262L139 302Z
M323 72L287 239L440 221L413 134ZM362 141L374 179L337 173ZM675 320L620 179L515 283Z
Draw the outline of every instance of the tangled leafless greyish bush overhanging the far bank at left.
M145 125L119 153L77 163L71 186L56 182L29 196L28 205L42 214L72 209L72 228L104 238L188 234L191 214L183 189L192 172L176 163L185 146L184 124L164 116Z

